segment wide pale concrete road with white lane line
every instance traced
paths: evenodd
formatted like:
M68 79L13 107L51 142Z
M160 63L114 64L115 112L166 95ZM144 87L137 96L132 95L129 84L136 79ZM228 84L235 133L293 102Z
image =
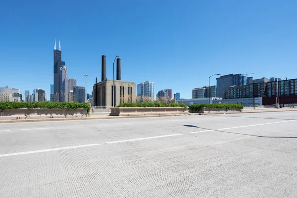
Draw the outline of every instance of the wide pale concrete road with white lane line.
M0 198L296 198L297 112L0 124Z

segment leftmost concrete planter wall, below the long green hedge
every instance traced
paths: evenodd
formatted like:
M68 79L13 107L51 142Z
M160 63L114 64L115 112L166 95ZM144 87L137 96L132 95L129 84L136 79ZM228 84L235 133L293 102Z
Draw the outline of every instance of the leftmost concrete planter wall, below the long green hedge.
M40 118L71 118L71 117L88 117L85 108L63 109L63 108L19 108L4 109L0 111L0 120L14 119L40 119Z

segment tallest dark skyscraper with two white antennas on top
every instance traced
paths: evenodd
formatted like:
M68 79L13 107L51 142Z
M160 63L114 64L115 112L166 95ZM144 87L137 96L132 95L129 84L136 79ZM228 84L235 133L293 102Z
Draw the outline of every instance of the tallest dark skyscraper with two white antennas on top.
M63 68L65 62L62 61L62 51L61 51L61 44L59 42L59 49L56 49L56 42L54 41L54 48L53 48L53 94L58 96L59 101L62 99L62 83L61 81L61 71L60 69ZM50 96L51 99L54 97Z

